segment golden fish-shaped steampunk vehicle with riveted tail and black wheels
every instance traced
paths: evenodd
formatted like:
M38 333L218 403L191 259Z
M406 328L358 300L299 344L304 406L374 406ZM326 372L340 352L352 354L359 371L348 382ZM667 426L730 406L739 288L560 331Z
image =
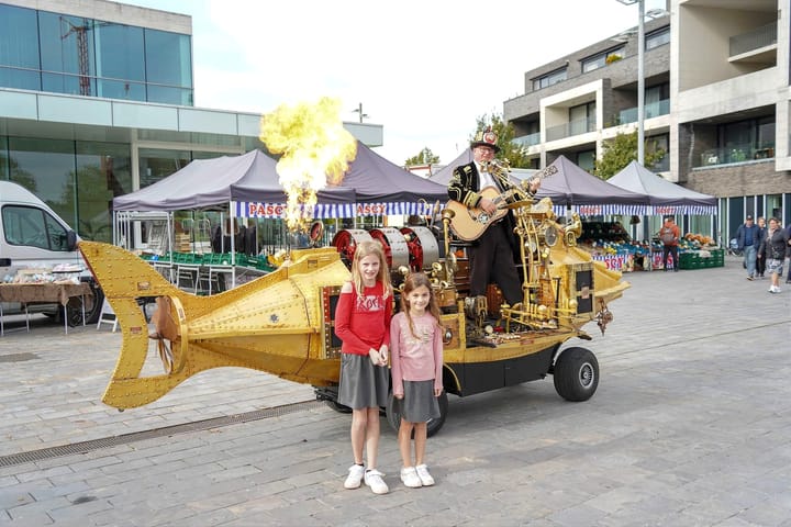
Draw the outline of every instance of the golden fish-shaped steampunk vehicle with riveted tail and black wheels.
M211 296L179 290L119 247L80 242L123 333L102 400L120 410L142 406L198 372L243 367L312 384L319 399L347 411L335 399L341 341L333 330L334 310L350 278L347 266L356 245L372 238L386 249L394 284L408 272L424 271L443 309L445 392L442 416L430 422L430 434L445 422L448 393L468 396L550 374L561 397L586 401L599 384L597 358L583 347L561 346L572 338L590 339L583 326L592 322L603 333L612 319L609 303L630 284L577 248L581 224L576 214L560 221L548 199L535 201L520 188L501 208L513 213L521 247L523 299L515 305L502 303L497 291L468 294L464 249L469 242L456 233L460 227L454 218L469 211L450 205L437 206L426 225L347 229L336 234L332 247L292 249L277 270ZM479 225L488 221L470 217ZM158 306L151 324L140 307L144 298L155 298ZM152 347L161 370L145 375ZM385 411L397 428L400 416L392 401Z

